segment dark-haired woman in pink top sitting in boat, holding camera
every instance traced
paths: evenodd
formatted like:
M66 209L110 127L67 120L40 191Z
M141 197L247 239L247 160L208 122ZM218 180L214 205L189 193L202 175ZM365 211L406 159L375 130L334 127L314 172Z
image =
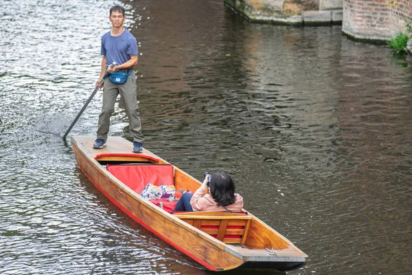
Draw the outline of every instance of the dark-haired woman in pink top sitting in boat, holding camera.
M205 195L206 188L210 188ZM231 177L225 172L211 175L210 181L205 177L201 187L194 192L184 192L177 201L174 212L176 211L228 211L241 212L243 198L235 193L235 184Z

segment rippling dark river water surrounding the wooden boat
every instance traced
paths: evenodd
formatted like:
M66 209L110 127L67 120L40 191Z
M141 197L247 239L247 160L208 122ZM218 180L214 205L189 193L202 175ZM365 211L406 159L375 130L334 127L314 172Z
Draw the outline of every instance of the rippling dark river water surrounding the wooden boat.
M210 274L113 206L62 141L100 72L99 0L0 1L0 274ZM407 274L412 64L341 26L252 24L218 0L124 1L144 147L309 256L288 274ZM70 135L95 135L102 94ZM126 137L119 100L110 135ZM222 274L274 274L239 270Z

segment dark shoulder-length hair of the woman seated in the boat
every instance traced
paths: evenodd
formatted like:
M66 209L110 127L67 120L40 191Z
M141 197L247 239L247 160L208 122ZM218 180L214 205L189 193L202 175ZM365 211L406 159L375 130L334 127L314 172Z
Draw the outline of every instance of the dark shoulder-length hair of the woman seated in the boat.
M235 202L235 183L225 172L211 175L210 180L211 197L218 203L218 206L229 206Z

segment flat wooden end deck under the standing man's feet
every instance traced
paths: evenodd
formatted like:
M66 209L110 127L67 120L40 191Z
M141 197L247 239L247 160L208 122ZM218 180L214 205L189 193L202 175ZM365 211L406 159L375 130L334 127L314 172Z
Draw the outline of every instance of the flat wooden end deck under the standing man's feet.
M160 159L159 156L153 154L145 148L143 149L143 153L141 154L133 153L133 142L129 142L128 140L125 140L123 137L108 137L106 141L107 146L104 146L102 149L93 148L95 137L92 136L78 135L75 138L73 138L73 140L76 141L76 144L78 144L78 146L82 146L82 150L86 151L93 158L96 155L102 154L128 154L132 156L135 155L136 157L139 157L139 155L150 155L151 157Z

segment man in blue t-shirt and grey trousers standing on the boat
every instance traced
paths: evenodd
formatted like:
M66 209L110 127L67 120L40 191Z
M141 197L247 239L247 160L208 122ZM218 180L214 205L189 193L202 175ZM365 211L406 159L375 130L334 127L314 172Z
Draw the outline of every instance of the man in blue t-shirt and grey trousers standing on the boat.
M137 41L135 36L123 27L126 18L122 6L113 5L109 14L112 30L102 36L102 70L96 86L106 70L110 74L104 81L102 113L99 115L97 139L93 148L101 149L106 146L110 117L115 109L117 95L120 94L128 116L130 133L133 135L133 152L141 153L144 135L141 133L136 76L133 71L133 66L137 65ZM113 62L117 65L108 67Z

